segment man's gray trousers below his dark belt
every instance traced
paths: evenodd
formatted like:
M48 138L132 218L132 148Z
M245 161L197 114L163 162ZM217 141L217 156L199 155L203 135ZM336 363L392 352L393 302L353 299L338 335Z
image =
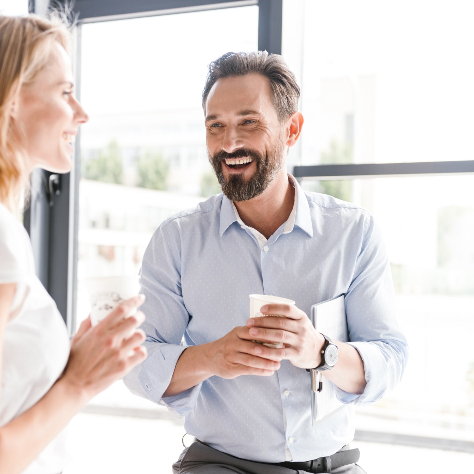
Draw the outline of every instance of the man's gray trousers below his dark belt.
M202 443L192 443L185 448L173 464L173 474L306 474L306 471L289 469L271 464L256 463L221 453ZM356 464L333 469L331 474L366 474Z

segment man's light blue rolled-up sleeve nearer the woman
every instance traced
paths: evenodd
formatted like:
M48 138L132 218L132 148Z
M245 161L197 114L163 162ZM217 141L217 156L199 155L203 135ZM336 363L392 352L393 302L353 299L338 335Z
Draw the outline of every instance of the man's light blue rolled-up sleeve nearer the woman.
M140 270L140 292L146 301L140 310L146 315L141 328L146 334L148 357L123 377L123 382L132 393L165 405L174 416L182 417L194 407L201 384L163 397L187 347L180 344L190 318L182 297L179 237L179 227L168 220L155 231L146 248Z

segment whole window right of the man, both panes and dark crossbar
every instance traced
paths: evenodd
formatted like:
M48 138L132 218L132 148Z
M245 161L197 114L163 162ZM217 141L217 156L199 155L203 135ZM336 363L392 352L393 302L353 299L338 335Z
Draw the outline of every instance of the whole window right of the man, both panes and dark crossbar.
M372 441L457 440L461 450L474 439L474 355L465 340L474 324L474 178L431 174L474 172L473 162L454 163L474 156L474 70L463 59L472 11L463 1L283 2L282 51L305 118L289 161L303 188L372 211L409 338L401 385L357 409L357 432ZM390 177L403 173L426 175Z

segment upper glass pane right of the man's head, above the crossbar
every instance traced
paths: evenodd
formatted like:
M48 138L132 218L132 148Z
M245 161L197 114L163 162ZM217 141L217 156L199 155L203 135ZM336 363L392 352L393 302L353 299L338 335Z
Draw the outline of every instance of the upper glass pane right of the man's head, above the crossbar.
M305 117L292 164L471 160L474 4L283 0Z

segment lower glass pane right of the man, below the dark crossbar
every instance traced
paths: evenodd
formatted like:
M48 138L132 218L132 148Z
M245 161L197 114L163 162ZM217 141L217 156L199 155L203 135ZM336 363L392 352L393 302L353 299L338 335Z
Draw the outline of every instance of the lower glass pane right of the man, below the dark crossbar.
M357 428L474 441L474 176L303 180L370 210L410 346L400 386Z

